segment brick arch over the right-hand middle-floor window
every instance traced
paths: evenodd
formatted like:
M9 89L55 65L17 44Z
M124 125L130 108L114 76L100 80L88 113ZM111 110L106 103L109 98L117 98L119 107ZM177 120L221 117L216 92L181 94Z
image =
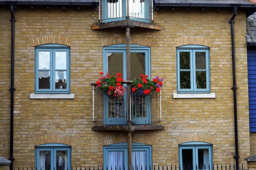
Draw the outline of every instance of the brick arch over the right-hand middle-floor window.
M212 47L212 41L209 38L202 37L202 36L184 36L179 37L174 40L175 46L185 46L185 45L201 45Z

